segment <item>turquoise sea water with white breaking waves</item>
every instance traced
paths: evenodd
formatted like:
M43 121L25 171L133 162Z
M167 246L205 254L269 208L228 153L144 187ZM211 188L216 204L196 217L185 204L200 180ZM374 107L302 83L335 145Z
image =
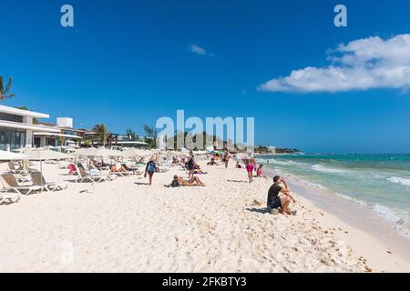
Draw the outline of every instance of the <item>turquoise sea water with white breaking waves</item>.
M410 155L275 155L257 162L368 207L410 238Z

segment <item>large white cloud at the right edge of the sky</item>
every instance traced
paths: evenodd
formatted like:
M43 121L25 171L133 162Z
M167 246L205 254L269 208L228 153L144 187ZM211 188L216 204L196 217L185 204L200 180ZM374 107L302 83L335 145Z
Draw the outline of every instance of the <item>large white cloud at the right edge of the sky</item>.
M259 86L271 92L343 92L410 87L410 35L368 37L339 45L331 65L293 70Z

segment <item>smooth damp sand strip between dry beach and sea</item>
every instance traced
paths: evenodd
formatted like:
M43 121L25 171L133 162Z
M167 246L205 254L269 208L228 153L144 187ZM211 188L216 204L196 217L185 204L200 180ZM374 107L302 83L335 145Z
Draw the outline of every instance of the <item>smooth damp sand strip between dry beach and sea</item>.
M272 168L264 170L272 176L275 173ZM354 201L305 186L290 174L282 175L288 178L292 192L299 196L302 204L315 208L315 218L358 254L366 257L374 272L410 271L410 240L391 229L391 223L368 209L361 209ZM339 231L339 228L345 229L348 234Z

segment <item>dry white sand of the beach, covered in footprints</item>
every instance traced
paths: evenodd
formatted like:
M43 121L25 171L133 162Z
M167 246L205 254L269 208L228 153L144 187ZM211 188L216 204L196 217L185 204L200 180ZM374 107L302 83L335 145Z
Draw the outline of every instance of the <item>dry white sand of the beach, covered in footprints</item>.
M205 187L164 187L186 176L171 168L154 176L154 186L138 176L69 183L1 205L0 271L410 271L395 251L297 194L297 216L266 213L271 180L249 184L233 164L202 166ZM44 167L49 181L73 178Z

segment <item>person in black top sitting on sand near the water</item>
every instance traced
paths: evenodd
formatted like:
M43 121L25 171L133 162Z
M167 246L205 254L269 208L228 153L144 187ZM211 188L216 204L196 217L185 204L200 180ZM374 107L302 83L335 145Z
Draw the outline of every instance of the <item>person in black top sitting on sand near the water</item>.
M284 188L281 184L283 184ZM290 192L291 189L289 188L288 183L281 176L274 176L273 185L268 191L268 207L271 209L279 209L279 212L282 214L296 215L296 211L291 211L291 209L289 209L291 201L293 203L296 202Z

